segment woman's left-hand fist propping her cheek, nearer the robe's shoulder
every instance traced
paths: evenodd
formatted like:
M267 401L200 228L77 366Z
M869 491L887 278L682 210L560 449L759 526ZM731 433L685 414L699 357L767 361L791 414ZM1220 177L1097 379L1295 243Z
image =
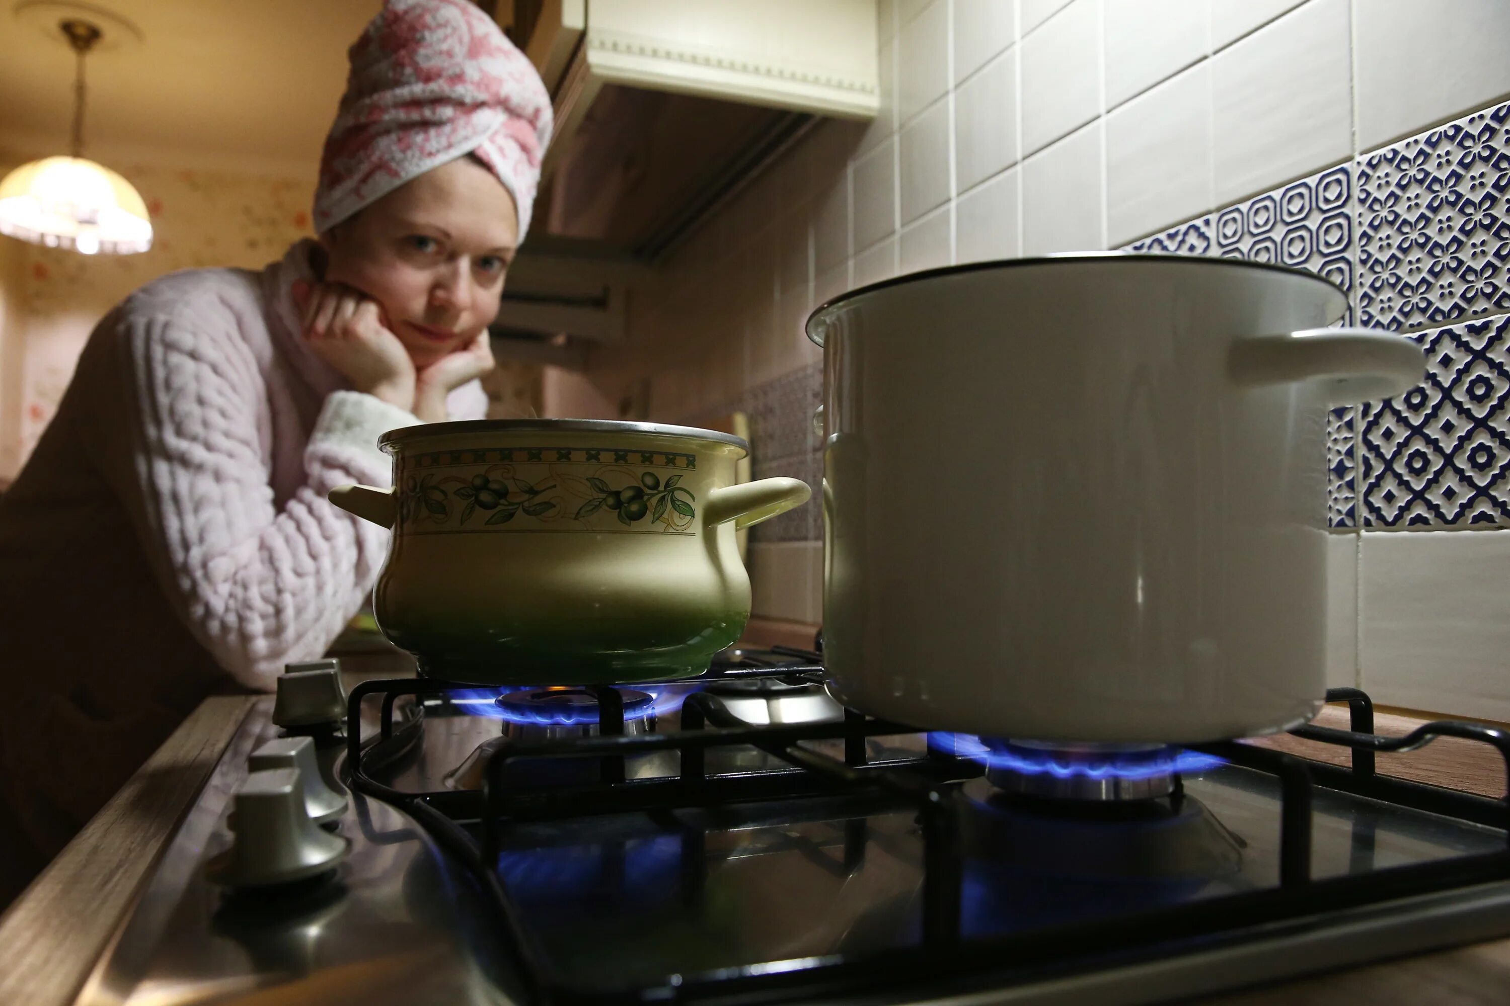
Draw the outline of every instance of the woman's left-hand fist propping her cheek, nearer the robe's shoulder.
M405 412L415 409L414 360L384 324L376 300L341 284L305 282L293 285L293 297L304 312L310 348L352 388Z

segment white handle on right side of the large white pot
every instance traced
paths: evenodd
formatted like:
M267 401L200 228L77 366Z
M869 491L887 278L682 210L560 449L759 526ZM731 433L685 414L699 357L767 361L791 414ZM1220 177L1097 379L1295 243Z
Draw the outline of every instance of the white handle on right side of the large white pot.
M1243 385L1326 385L1335 406L1398 395L1425 380L1419 345L1379 329L1306 329L1290 335L1238 339L1228 357Z

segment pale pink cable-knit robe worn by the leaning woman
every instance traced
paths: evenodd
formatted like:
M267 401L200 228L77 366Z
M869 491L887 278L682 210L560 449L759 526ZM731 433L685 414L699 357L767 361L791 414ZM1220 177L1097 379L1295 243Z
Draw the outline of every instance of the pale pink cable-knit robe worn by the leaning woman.
M0 792L44 855L204 695L319 658L378 578L388 531L326 492L388 486L378 436L418 419L302 341L311 247L127 297L0 501Z

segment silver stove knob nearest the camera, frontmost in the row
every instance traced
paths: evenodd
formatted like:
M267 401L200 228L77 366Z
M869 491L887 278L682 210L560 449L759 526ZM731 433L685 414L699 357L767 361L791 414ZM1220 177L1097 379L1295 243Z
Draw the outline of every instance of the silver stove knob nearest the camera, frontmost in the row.
M236 790L231 830L236 845L207 864L210 879L226 887L267 887L319 876L335 869L352 849L349 839L310 820L299 769L248 775Z

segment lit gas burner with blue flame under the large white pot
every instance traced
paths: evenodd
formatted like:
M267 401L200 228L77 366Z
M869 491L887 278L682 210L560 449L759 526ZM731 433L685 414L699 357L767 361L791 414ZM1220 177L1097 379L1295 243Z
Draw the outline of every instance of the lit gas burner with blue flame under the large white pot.
M1179 772L1222 765L1220 759L1161 744L1059 744L948 733L929 735L929 744L982 762L986 778L1004 793L1042 799L1155 799L1175 792Z

